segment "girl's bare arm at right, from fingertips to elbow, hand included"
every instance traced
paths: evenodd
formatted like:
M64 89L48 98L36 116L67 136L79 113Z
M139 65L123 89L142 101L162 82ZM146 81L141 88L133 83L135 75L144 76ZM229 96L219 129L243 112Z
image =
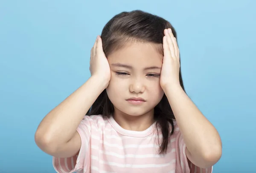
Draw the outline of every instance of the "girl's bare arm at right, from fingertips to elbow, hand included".
M179 48L170 28L166 29L164 34L160 85L183 135L187 158L198 167L211 167L221 158L221 138L218 131L181 88L178 82Z

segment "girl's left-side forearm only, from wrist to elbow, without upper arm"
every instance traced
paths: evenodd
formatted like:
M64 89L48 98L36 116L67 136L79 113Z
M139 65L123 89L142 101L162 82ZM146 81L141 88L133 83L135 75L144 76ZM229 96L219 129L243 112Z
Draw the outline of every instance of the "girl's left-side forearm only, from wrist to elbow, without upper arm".
M103 90L104 85L98 79L88 79L44 117L35 134L36 141L56 146L68 142Z

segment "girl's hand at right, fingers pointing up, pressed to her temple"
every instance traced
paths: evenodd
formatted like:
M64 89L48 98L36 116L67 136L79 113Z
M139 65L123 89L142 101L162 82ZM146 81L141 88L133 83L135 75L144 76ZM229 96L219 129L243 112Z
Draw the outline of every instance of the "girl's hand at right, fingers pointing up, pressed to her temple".
M160 85L165 90L173 86L180 86L180 51L176 38L170 28L164 30L163 37L163 65L160 75Z

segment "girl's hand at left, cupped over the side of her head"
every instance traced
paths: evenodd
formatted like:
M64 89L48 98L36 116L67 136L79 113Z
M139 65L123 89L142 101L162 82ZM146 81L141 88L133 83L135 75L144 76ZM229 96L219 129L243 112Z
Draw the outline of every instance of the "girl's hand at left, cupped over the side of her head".
M90 73L92 77L96 77L103 82L107 88L111 78L111 72L107 57L102 48L102 39L97 37L90 54Z

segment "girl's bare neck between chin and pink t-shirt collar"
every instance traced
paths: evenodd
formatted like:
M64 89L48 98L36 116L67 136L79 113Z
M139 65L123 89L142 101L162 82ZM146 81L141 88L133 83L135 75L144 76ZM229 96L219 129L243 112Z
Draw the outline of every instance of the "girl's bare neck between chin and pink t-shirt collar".
M113 119L126 130L143 131L154 123L154 109L140 116L128 115L115 109Z

